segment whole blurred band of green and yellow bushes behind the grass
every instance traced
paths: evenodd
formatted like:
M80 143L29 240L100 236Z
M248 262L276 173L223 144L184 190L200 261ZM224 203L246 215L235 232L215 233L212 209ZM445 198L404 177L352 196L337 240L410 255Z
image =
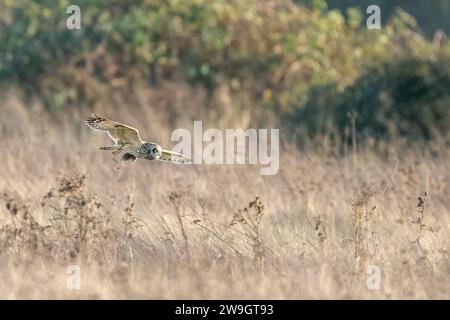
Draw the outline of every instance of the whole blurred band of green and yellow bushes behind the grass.
M209 91L225 84L254 111L312 133L324 123L343 130L348 110L376 135L397 123L399 134L428 137L424 126L448 118L448 45L425 39L401 10L368 30L364 11L327 10L324 0L80 0L82 28L68 30L70 4L4 0L0 10L0 82L49 109L93 103L117 86L181 80ZM412 115L421 108L439 111ZM448 131L445 120L439 126Z

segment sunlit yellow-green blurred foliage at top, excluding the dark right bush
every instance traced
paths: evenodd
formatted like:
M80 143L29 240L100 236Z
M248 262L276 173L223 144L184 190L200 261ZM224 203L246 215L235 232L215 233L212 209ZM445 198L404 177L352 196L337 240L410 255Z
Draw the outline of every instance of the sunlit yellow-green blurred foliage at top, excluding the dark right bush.
M323 3L306 9L290 0L84 0L78 3L82 29L68 30L68 0L6 0L0 81L39 94L71 86L83 96L91 80L102 86L116 77L155 82L181 74L210 89L226 80L288 109L311 83L347 84L358 57L385 37L369 36L364 45L356 15L347 23Z

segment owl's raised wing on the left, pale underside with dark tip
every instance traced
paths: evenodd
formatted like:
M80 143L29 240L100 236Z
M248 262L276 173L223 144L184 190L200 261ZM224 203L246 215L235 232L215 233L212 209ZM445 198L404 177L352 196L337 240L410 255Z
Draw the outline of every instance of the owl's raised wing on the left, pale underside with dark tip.
M119 122L101 118L95 114L92 114L92 116L86 120L86 124L91 129L105 131L117 144L138 145L143 143L137 129Z

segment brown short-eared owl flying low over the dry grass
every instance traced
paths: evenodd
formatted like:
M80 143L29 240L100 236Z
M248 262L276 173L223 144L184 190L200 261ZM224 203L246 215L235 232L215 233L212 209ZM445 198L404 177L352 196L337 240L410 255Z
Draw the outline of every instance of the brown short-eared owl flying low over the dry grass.
M110 147L99 147L99 150L112 151L113 155L123 152L123 161L135 161L137 158L181 163L191 161L180 153L162 149L157 143L142 141L137 129L122 123L92 114L92 116L86 120L86 124L91 129L106 132L115 142L115 145Z

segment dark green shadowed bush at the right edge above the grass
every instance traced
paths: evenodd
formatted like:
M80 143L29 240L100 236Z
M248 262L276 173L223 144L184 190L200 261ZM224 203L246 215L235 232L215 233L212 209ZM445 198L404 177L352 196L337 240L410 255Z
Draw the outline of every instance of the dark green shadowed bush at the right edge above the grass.
M409 58L369 69L338 92L314 87L296 119L311 135L350 139L352 117L360 138L450 138L450 55Z

